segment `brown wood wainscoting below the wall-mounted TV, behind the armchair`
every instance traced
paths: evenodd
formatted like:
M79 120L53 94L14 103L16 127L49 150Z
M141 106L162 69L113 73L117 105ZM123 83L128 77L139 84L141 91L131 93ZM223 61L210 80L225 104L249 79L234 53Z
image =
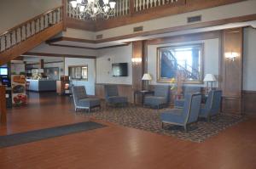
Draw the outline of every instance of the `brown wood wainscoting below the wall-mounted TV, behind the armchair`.
M100 99L105 99L104 85L108 83L96 83L96 97ZM116 84L118 86L119 95L126 96L128 102L133 103L133 89L131 85L128 84Z

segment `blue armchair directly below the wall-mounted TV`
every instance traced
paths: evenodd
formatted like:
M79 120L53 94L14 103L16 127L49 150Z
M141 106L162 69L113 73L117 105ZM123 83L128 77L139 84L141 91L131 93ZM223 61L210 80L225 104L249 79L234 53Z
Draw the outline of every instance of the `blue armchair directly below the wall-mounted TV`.
M119 91L117 85L105 85L105 99L106 104L110 105L127 105L128 99L127 97L119 96Z

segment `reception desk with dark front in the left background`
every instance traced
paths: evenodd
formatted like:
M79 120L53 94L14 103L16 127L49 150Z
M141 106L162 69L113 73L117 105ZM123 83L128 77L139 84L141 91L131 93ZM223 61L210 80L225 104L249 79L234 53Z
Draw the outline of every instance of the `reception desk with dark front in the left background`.
M56 91L56 81L55 80L33 80L26 79L29 82L29 91L34 92L46 92L46 91Z

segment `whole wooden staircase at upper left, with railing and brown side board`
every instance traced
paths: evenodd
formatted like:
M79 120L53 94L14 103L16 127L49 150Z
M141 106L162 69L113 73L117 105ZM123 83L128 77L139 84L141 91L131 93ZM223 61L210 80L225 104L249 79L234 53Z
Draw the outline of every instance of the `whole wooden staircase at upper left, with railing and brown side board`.
M50 9L0 34L0 65L63 31L63 8Z

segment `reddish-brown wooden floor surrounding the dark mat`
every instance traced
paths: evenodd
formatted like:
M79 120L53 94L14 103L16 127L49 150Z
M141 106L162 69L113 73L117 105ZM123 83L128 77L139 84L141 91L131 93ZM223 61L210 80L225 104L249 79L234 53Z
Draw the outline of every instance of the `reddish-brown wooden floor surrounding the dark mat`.
M73 112L68 97L31 93L30 98L28 106L9 110L0 135L89 120ZM104 123L108 127L0 149L0 168L256 168L253 118L201 144Z

